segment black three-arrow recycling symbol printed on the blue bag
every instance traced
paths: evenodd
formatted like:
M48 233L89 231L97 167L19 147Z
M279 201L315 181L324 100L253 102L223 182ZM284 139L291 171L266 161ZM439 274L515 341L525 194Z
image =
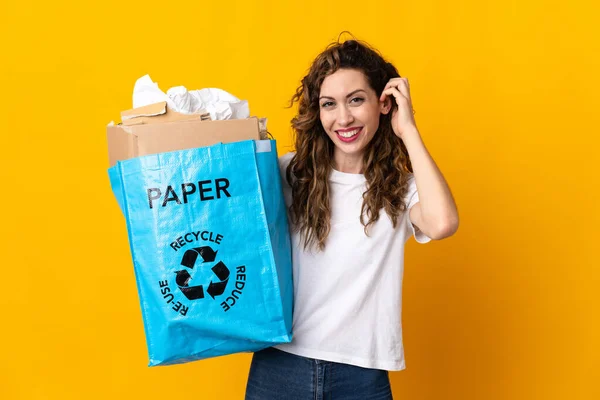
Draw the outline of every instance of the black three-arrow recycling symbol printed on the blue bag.
M189 269L194 269L196 265L196 261L198 260L198 256L202 258L202 263L214 262L215 257L217 256L217 252L214 251L209 246L196 247L193 249L186 250L183 254L183 258L181 259L181 265L187 267ZM208 284L208 288L206 289L206 293L210 295L213 299L215 296L220 296L225 292L225 288L227 287L227 282L229 281L229 269L222 261L219 261L215 264L214 267L211 268L213 273L218 281L213 282L210 281ZM175 271L177 277L175 278L175 282L177 286L179 286L179 290L188 298L188 300L197 300L204 298L204 288L202 285L197 286L189 286L189 282L192 279L192 276L188 272L187 269L182 269L181 271Z

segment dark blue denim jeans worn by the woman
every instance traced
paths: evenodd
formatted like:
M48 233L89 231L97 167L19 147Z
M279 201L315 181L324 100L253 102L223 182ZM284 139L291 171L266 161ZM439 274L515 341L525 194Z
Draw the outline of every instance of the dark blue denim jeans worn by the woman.
M387 371L286 353L252 356L246 400L391 400Z

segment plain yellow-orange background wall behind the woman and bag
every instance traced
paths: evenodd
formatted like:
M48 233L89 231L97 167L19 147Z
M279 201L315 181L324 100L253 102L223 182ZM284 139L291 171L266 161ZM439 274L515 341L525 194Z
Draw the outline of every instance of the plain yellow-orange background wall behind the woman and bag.
M459 206L411 240L397 399L599 399L597 2L0 4L0 398L241 399L250 354L148 368L105 126L137 78L269 118L343 30L409 78ZM187 388L187 389L182 389Z

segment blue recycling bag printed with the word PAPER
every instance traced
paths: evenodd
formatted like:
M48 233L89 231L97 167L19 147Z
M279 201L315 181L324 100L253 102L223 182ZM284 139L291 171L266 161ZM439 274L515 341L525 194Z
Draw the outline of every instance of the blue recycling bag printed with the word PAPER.
M150 366L292 339L291 248L274 140L119 161Z

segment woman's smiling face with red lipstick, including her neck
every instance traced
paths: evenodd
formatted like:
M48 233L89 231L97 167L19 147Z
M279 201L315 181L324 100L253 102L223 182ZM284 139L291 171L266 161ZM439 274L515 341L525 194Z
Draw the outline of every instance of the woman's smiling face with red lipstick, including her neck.
M339 69L327 76L319 95L319 117L335 145L334 165L342 172L362 171L365 148L379 128L379 116L387 113L364 73Z

